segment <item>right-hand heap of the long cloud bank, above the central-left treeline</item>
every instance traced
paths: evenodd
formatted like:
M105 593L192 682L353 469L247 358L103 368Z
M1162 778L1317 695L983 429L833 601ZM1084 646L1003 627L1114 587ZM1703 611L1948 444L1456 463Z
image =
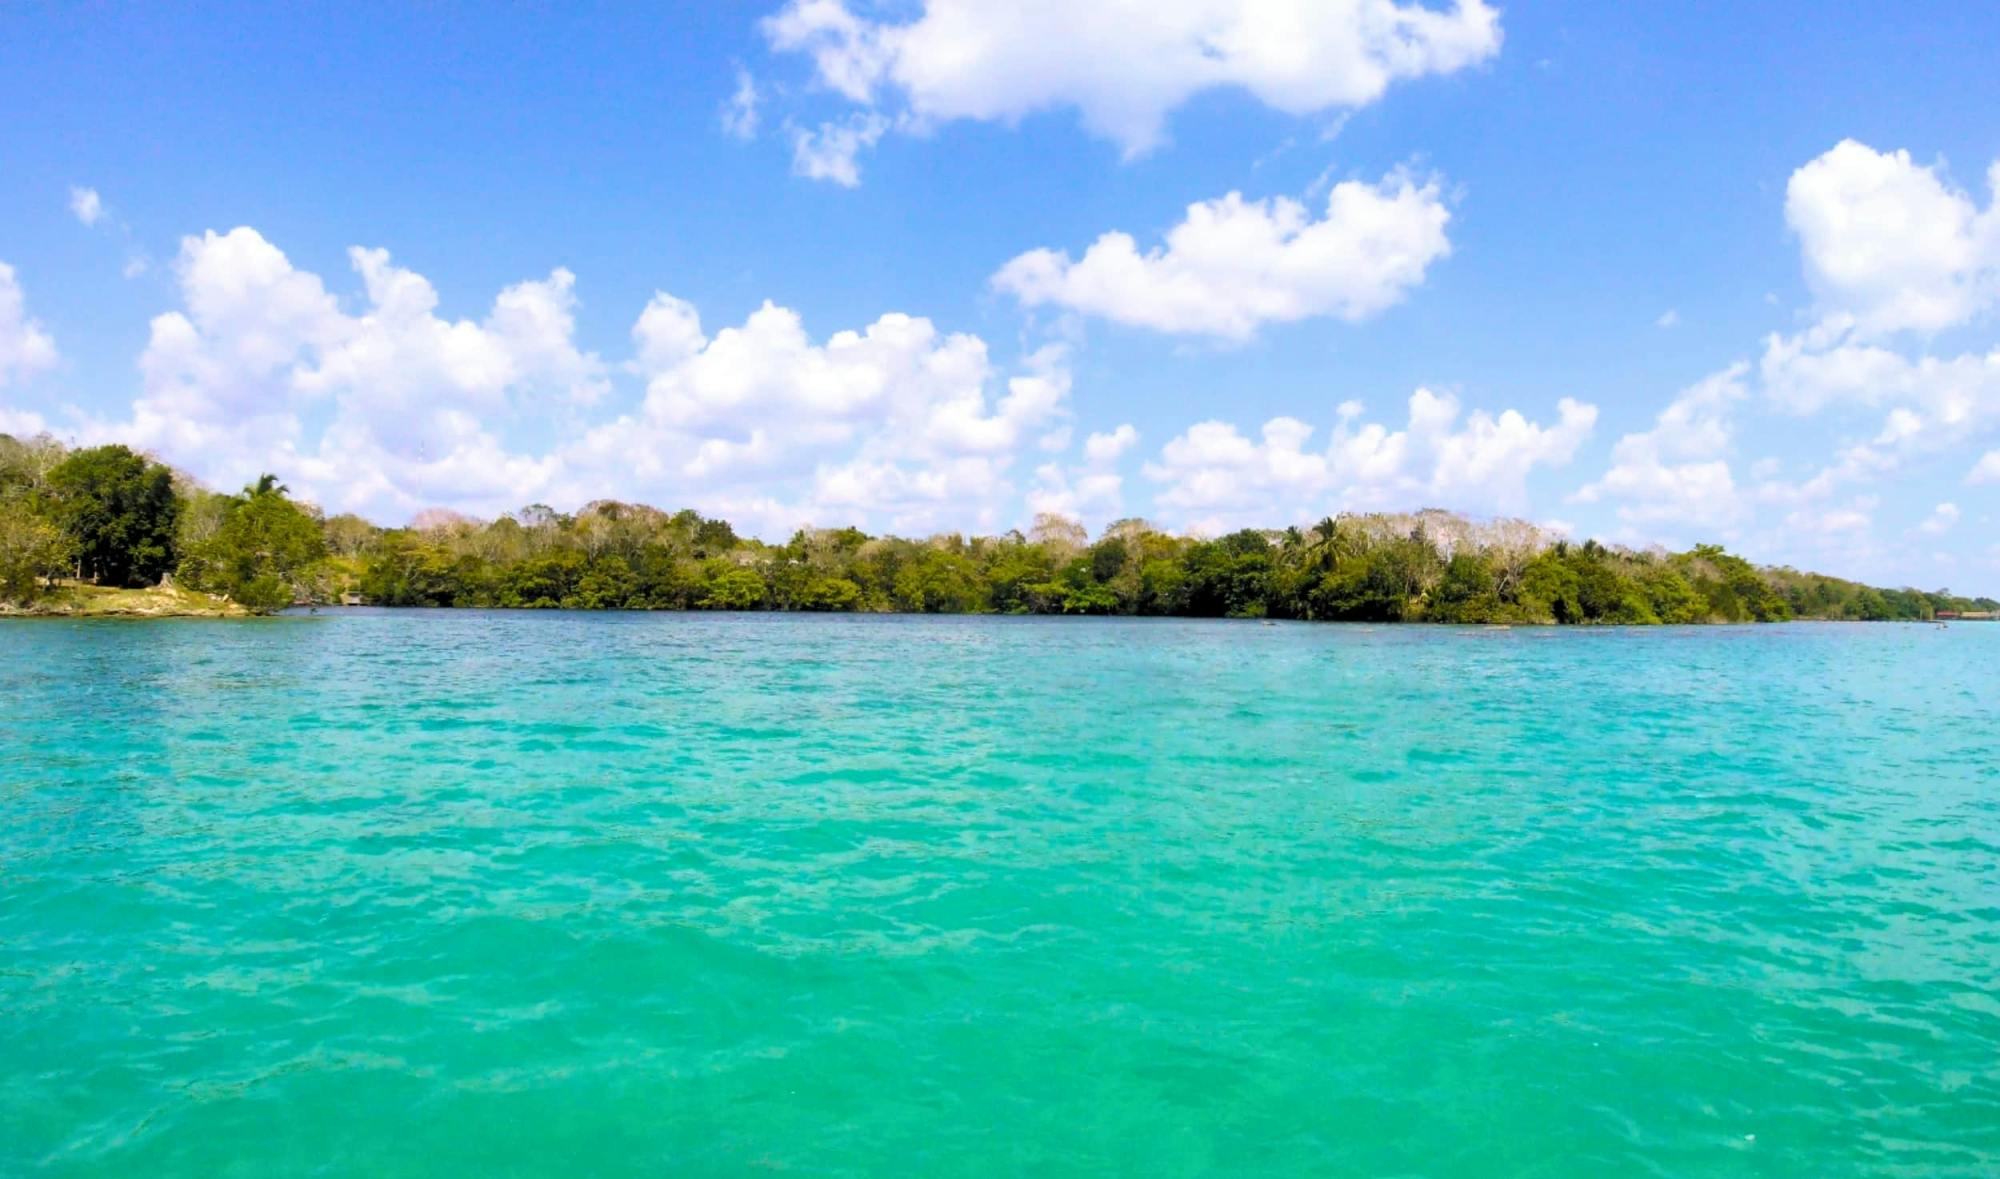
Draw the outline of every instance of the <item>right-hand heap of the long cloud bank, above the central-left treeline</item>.
M998 522L1016 452L1068 412L1060 348L1002 378L980 338L918 316L822 344L766 302L710 338L690 304L662 294L632 334L646 398L564 452L570 478L722 496L788 526ZM774 486L794 492L774 498Z

